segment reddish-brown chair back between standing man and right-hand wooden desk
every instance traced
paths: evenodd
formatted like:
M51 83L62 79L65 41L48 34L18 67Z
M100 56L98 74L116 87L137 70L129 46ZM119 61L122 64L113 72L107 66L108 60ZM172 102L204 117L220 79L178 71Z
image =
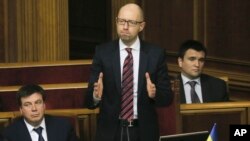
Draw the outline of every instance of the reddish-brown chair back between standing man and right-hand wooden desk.
M160 135L171 135L181 132L180 126L180 81L171 80L171 88L174 94L172 103L167 107L157 108Z

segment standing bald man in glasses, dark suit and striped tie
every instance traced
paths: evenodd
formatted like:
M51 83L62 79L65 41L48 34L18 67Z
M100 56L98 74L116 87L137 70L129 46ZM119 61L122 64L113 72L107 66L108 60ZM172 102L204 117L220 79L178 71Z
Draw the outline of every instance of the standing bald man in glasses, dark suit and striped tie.
M173 97L165 51L139 39L145 21L136 4L121 7L116 27L119 39L96 47L87 91L87 106L100 107L96 141L158 141L155 108Z

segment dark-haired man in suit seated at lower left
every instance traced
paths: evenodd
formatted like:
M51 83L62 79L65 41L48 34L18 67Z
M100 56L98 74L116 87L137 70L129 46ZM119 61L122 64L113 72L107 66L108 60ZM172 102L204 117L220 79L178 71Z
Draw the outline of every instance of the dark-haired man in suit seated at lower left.
M38 85L19 89L17 100L21 117L3 132L8 141L77 141L71 123L61 117L44 115L45 92Z

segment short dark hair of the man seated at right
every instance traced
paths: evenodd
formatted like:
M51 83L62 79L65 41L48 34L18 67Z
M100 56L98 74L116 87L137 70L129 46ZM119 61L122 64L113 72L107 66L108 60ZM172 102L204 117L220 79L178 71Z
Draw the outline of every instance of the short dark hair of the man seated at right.
M201 42L196 40L187 40L181 44L178 52L178 57L183 58L188 49L203 51L205 53L205 57L207 56L207 49Z

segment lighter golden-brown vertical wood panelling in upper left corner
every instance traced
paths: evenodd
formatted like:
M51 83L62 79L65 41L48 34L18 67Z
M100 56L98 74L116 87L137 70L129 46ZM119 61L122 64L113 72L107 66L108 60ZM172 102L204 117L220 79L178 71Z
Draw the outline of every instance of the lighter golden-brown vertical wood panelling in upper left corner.
M1 0L1 11L2 62L69 59L68 0Z

